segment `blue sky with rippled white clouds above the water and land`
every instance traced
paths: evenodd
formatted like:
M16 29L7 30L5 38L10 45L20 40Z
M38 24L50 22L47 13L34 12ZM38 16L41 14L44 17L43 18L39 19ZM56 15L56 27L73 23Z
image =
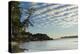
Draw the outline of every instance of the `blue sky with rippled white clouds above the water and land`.
M36 11L30 17L33 27L28 31L47 34L52 38L72 36L78 33L78 6L73 4L21 2L21 21L27 18L26 11L34 8ZM27 31L27 30L26 30Z

